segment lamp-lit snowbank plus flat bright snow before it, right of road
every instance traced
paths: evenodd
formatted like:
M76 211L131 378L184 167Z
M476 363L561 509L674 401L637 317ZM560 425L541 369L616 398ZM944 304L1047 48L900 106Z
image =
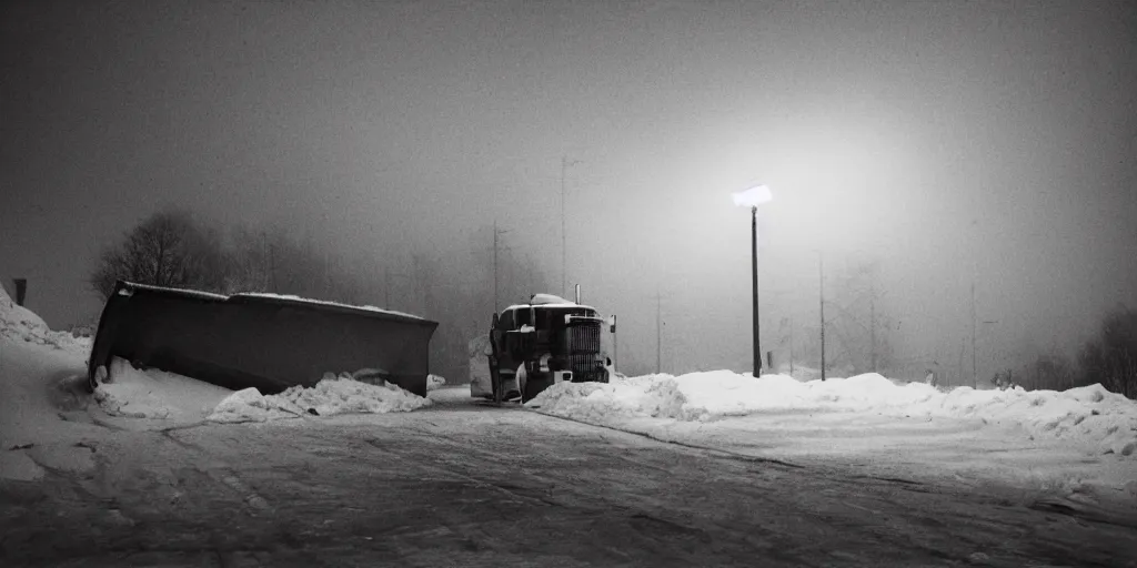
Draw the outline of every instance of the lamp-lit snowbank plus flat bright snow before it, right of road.
M1094 492L1137 508L1137 402L1067 392L943 392L880 375L797 381L731 371L563 383L529 403L553 416L777 459L881 475Z

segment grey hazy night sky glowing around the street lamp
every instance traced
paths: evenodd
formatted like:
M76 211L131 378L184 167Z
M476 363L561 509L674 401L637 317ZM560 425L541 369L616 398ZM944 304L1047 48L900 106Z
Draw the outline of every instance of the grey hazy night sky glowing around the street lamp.
M558 276L563 156L630 357L658 285L665 359L745 368L758 182L769 317L815 317L818 250L881 261L910 354L954 357L972 282L1005 352L1137 304L1132 2L5 1L0 42L0 277L57 326L169 204L352 258L496 218Z

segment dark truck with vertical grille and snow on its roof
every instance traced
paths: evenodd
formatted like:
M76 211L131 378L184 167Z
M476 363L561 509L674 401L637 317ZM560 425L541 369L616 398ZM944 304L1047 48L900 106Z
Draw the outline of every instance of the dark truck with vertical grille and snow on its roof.
M488 341L472 342L471 396L528 402L561 382L607 383L612 360L601 345L605 319L590 306L553 294L492 315ZM614 332L614 320L609 323ZM485 368L485 367L481 367ZM487 376L488 375L488 376ZM488 384L487 384L488 383Z

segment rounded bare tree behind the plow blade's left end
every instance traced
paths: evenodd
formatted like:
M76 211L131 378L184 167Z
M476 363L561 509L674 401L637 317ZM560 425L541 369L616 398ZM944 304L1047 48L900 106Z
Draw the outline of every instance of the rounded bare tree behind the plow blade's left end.
M107 299L119 279L168 287L222 291L229 262L217 233L190 214L151 215L102 251L90 285Z

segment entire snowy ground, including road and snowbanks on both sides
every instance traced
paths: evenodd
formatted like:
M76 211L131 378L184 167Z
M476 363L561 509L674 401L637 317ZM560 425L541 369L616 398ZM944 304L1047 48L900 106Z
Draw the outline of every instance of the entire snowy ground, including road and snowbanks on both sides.
M1093 389L699 374L533 411L116 362L96 402L82 343L5 321L3 566L1137 566L1131 407Z

